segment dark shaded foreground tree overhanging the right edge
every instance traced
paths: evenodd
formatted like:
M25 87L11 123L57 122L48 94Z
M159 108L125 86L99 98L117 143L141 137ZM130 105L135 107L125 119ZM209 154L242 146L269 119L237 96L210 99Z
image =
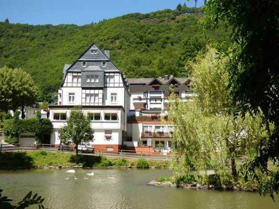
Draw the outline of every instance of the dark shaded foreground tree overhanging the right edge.
M262 139L258 155L250 164L255 178L261 179L256 175L257 168L270 173L270 160L279 166L279 2L209 0L205 8L210 26L226 21L233 27L237 47L231 56L230 82L235 102L244 111L261 107L266 121L275 124L272 136ZM279 169L273 177L271 194L279 191Z

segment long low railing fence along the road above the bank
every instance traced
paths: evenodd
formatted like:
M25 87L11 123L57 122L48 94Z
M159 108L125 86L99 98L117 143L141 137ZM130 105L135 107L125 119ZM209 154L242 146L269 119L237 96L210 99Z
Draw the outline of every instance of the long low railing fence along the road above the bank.
M47 150L47 151L63 151L65 153L75 153L76 150L72 146L63 146L52 144L0 144L0 153L7 151L32 151L32 150ZM107 157L119 158L146 158L154 160L171 160L171 153L159 152L143 152L134 150L107 150L94 148L79 148L79 153L83 155L101 155Z

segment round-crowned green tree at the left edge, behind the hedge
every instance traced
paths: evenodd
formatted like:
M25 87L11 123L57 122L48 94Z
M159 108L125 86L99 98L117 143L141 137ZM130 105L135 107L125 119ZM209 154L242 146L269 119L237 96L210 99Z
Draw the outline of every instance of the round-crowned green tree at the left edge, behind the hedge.
M22 118L25 118L24 107L35 103L38 88L30 74L22 69L0 68L0 109L14 112L18 107L22 109Z

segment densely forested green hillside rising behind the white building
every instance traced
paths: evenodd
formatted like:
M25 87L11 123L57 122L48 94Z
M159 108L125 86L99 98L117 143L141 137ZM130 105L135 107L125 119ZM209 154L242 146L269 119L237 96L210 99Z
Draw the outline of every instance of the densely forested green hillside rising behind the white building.
M0 65L27 70L40 100L51 102L70 64L92 43L111 49L111 59L127 77L187 76L187 63L208 44L226 49L230 29L204 30L201 8L178 6L133 13L84 26L0 22Z

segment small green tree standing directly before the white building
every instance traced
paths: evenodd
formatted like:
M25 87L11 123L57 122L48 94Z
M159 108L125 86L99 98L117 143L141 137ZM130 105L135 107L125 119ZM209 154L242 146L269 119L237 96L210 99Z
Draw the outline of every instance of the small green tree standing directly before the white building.
M93 134L93 129L90 126L90 118L83 115L79 106L71 111L70 117L67 119L67 124L60 130L60 137L63 142L76 144L77 162L78 145L82 142L91 141Z

